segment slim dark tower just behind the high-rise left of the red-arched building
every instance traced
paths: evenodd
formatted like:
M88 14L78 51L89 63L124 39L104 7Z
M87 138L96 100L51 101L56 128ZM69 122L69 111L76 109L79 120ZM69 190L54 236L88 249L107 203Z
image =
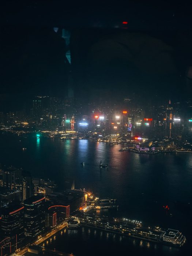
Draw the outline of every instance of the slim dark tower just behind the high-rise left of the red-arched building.
M23 172L21 181L21 201L34 195L34 184L30 172Z

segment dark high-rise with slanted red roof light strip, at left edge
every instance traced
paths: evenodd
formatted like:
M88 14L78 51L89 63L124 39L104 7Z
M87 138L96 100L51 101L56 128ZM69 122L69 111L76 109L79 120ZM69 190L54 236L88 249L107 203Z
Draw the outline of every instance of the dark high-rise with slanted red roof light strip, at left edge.
M24 206L12 204L1 211L1 234L10 237L11 251L14 252L24 240Z

